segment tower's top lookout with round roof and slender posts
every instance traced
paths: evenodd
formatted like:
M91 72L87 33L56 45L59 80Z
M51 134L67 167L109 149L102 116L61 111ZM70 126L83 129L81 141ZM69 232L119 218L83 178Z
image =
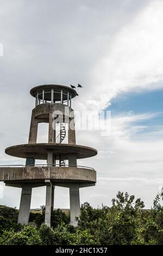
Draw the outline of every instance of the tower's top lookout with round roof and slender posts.
M71 99L78 96L76 90L64 85L39 85L30 90L36 105L44 103L66 104L71 108Z

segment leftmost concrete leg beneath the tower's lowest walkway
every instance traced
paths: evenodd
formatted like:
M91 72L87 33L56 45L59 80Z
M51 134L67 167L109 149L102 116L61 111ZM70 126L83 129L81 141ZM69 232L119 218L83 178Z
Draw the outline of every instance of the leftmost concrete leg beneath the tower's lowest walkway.
M21 202L20 202L20 209L18 213L17 223L28 224L31 197L32 197L32 187L30 185L24 185L22 187Z

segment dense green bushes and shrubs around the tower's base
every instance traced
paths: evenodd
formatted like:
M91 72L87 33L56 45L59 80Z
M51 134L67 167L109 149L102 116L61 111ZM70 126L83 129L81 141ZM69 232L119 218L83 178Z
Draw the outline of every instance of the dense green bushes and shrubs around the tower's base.
M76 228L60 209L52 212L49 228L43 224L45 206L41 214L30 213L28 226L16 224L16 209L0 206L0 245L163 245L161 197L157 195L151 210L143 210L140 199L121 192L111 207L93 209L84 203Z

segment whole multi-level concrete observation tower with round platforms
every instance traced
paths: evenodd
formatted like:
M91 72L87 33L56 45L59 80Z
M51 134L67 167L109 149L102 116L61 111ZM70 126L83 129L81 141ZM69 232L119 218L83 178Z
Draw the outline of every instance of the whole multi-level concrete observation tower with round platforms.
M1 165L0 181L22 188L18 223L28 224L32 188L46 186L45 223L51 226L55 186L70 190L70 219L76 226L80 215L79 188L94 186L96 171L78 166L77 159L96 156L94 148L76 144L72 99L77 92L63 85L40 85L32 88L35 98L28 144L6 148L10 156L26 158L24 165ZM37 143L39 123L49 123L47 143ZM58 134L57 134L58 133ZM36 159L47 164L35 164ZM12 197L12 195L11 195Z

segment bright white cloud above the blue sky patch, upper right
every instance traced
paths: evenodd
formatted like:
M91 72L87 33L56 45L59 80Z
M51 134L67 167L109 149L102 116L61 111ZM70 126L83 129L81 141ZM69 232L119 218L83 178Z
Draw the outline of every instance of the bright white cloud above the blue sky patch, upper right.
M163 79L162 12L163 2L152 1L109 39L83 93L85 108L104 109L117 93L158 87Z

